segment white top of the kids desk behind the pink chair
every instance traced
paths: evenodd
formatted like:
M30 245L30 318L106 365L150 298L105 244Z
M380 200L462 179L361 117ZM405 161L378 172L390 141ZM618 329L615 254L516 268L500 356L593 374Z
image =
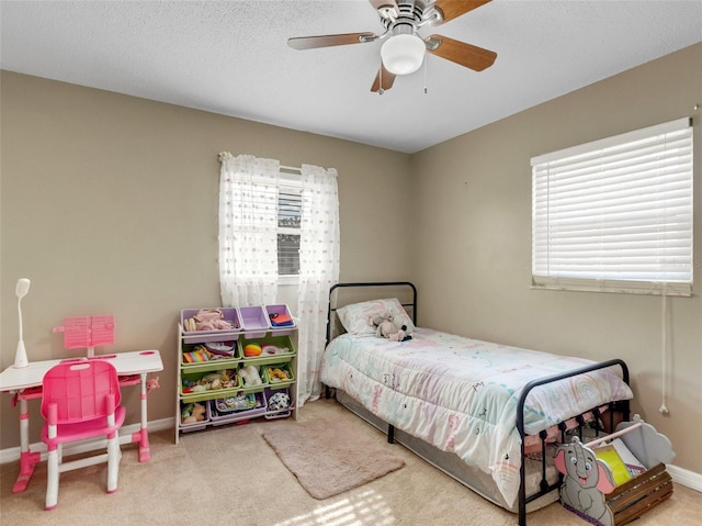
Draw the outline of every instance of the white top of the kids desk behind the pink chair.
M134 350L129 352L114 352L111 355L99 355L92 358L75 357L58 360L31 361L27 367L15 369L8 367L0 373L0 392L18 391L20 389L33 388L42 384L44 374L52 367L68 360L110 360L117 370L117 374L140 374L145 372L157 372L163 370L163 362L158 350Z

